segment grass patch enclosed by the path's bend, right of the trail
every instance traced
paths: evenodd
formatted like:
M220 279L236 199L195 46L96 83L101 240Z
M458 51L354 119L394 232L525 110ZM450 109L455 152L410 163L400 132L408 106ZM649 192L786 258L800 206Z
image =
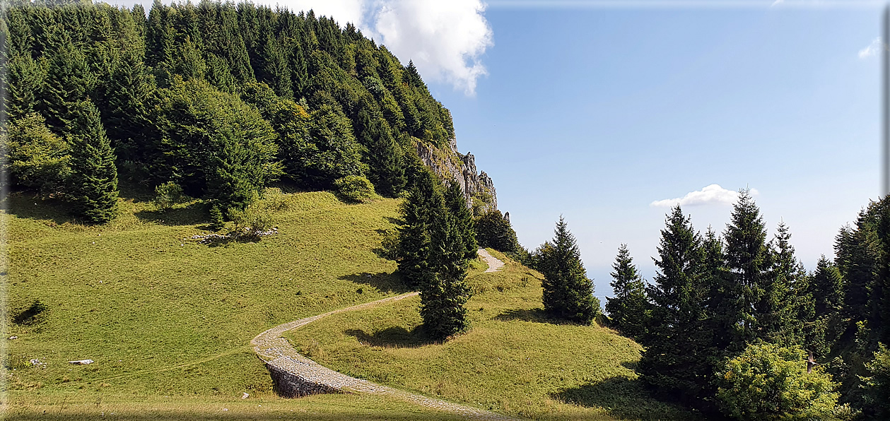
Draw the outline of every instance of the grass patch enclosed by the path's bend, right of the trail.
M640 358L638 344L608 328L548 320L540 274L490 252L507 264L468 277L472 328L444 344L425 339L419 297L336 314L286 337L350 376L514 416L694 418L638 384L628 368Z

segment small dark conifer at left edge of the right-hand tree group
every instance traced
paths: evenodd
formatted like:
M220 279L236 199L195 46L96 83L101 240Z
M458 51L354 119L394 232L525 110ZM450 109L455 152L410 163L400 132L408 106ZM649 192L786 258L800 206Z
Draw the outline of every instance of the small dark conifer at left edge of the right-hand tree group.
M638 340L645 333L650 309L643 277L634 265L627 244L619 247L612 269L615 271L611 272L610 285L615 296L607 298L606 311L619 332Z

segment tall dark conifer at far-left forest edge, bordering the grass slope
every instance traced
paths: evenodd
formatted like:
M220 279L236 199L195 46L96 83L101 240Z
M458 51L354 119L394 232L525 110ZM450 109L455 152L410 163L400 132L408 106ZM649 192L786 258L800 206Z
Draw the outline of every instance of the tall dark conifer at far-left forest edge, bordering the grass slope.
M70 116L74 210L91 223L108 223L117 214L117 167L111 142L93 102L77 102Z

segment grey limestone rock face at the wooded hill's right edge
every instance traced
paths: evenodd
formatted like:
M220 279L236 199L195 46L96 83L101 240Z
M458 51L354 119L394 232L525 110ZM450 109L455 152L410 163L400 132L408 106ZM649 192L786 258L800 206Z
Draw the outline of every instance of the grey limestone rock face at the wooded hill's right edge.
M491 177L484 171L476 173L476 158L469 152L458 152L456 140L450 139L449 148L445 150L425 142L417 142L416 146L420 160L446 185L452 180L457 181L460 190L464 191L466 206L473 209L473 213L478 215L498 209L498 194Z

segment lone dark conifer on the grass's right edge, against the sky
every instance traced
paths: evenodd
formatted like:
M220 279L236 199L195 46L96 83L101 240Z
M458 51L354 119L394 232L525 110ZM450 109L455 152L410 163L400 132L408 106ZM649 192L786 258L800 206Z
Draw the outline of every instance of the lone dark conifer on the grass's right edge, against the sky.
M551 316L590 324L599 312L594 287L581 265L581 253L565 219L560 216L553 247L543 256L544 311Z

